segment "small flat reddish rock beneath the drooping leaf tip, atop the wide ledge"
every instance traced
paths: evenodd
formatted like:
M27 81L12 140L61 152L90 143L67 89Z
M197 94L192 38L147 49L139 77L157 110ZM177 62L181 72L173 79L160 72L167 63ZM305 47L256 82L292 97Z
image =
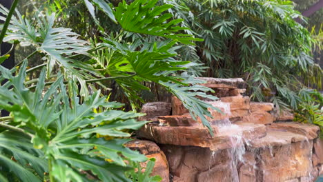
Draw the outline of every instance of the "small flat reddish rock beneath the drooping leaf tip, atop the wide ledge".
M164 116L158 117L159 123L161 125L170 125L170 126L179 126L179 125L202 125L202 123L198 123L190 114L184 115L173 115L173 116Z

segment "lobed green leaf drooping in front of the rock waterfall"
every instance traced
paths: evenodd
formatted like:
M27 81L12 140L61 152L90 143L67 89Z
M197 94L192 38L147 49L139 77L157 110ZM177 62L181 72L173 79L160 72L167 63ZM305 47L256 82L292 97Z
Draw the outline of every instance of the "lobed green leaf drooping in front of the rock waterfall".
M115 79L123 88L125 94L131 101L140 101L139 93L146 88L141 85L142 81L155 82L164 86L169 92L177 96L194 119L199 117L204 125L210 130L211 126L206 116L211 117L208 108L214 108L209 103L198 99L217 99L206 92L213 92L210 88L198 85L203 81L198 81L192 77L176 76L176 71L185 70L189 61L178 61L173 59L175 41L164 41L159 43L135 42L130 45L118 43L111 39L104 39L104 46L113 52L103 52L103 54L93 54L97 60L109 59L109 61L98 63L97 66L105 68L104 74L116 76L131 76ZM102 53L102 52L101 52Z

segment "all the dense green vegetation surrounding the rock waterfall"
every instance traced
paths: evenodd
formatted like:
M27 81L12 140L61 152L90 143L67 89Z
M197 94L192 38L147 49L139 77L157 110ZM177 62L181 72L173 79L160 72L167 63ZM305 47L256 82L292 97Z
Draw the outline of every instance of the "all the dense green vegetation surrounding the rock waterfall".
M136 121L142 93L161 89L210 128L211 105L197 98L217 98L193 76L243 77L253 100L323 125L322 95L308 86L322 87L315 40L290 1L21 0L18 10L1 26L18 55L0 67L10 111L0 181L159 181L154 161L141 173L146 157L124 143L146 123Z

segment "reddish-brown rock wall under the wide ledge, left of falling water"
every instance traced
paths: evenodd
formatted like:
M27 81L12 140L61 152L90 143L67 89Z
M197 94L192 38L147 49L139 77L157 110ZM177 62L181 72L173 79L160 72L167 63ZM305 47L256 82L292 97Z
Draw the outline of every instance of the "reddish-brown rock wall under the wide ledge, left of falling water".
M161 150L168 161L177 161L170 163L174 182L226 182L232 181L234 174L237 174L237 169L232 169L231 150L213 152L208 148L176 145L161 145ZM179 154L180 157L177 157Z

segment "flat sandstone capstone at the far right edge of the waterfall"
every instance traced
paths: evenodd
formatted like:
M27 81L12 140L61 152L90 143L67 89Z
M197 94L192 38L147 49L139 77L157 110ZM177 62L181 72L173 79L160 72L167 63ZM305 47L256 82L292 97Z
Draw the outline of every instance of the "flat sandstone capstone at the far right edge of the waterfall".
M296 122L272 123L268 125L268 128L302 134L309 140L317 138L318 132L320 131L320 127L317 125Z

